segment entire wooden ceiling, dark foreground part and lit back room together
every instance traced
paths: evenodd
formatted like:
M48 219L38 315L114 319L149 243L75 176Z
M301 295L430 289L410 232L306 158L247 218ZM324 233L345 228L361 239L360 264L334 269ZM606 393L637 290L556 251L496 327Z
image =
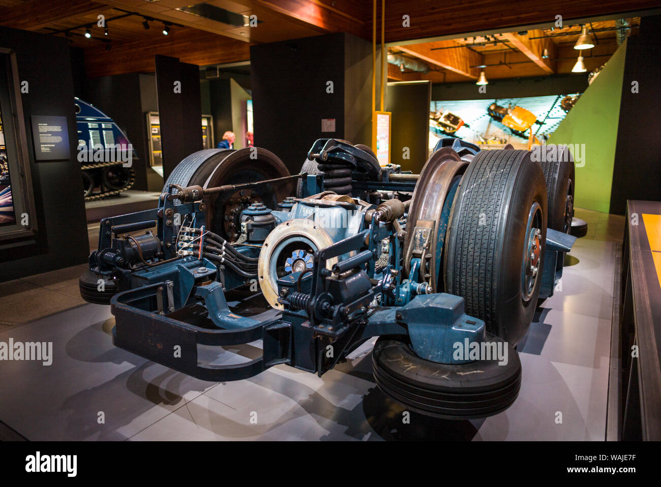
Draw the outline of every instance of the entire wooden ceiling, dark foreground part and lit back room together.
M380 2L377 11L380 14ZM206 3L245 18L256 15L258 26L250 27L200 17L180 9ZM85 51L89 77L131 72L153 72L154 55L178 57L184 62L213 65L245 61L250 46L329 32L349 32L371 40L371 1L369 0L0 0L0 25L66 37L71 46ZM565 21L661 7L661 0L555 0L539 2L476 0L471 3L437 0L387 0L386 42L403 42L394 52L419 57L434 71L427 75L401 73L389 65L393 79L432 79L467 81L477 79L486 64L489 78L536 76L570 71L576 57L572 42L578 26L564 29L529 30L527 34L503 29L503 34L467 37L465 32L493 32L494 28L553 21L562 13ZM108 34L97 26L98 15L106 20ZM403 16L410 17L404 27ZM245 19L244 18L244 19ZM149 29L143 22L148 19ZM549 20L550 19L550 20ZM609 23L610 22L610 23ZM602 31L613 24L593 22L598 45L584 53L586 65L603 64L617 47L614 31ZM239 22L240 23L240 22ZM169 35L163 26L169 25ZM92 37L85 38L87 28ZM569 36L557 36L566 34ZM631 33L635 35L634 29ZM453 40L422 42L456 34ZM461 36L459 36L461 34ZM537 39L536 37L543 37ZM421 39L420 44L410 44ZM407 42L404 42L407 41ZM496 42L496 45L493 45ZM458 46L455 48L455 46ZM553 50L549 59L533 59L540 46ZM539 57L539 56L537 56ZM603 58L603 59L602 59ZM575 62L575 61L574 61ZM492 66L494 65L494 66ZM568 67L567 67L568 66Z

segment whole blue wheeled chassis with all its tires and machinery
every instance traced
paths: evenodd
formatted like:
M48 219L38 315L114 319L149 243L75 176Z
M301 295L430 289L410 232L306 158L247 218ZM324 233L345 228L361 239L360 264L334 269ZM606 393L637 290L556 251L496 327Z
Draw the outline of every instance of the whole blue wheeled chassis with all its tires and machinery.
M529 151L443 139L410 174L319 139L293 175L265 149L198 151L157 208L101 221L81 295L110 304L116 346L200 379L278 364L322 375L379 337L387 396L439 418L491 416L518 396L514 347L576 240L574 163L558 150L542 167ZM266 318L228 305L257 287ZM198 355L254 340L262 356L243 363Z

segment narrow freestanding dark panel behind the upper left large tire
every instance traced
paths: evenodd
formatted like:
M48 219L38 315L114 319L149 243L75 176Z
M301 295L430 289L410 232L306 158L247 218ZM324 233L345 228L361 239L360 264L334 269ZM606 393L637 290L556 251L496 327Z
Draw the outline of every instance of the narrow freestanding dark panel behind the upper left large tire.
M155 56L163 178L186 156L202 150L200 67Z

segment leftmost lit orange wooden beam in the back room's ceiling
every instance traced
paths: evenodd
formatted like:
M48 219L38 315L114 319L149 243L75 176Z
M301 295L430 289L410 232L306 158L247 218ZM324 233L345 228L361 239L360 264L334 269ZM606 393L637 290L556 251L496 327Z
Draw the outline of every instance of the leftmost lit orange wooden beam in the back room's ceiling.
M475 67L481 65L482 54L461 46L453 40L440 40L425 44L410 44L408 46L395 46L396 50L405 52L410 56L418 57L427 63L440 66L448 71L477 79L480 70Z

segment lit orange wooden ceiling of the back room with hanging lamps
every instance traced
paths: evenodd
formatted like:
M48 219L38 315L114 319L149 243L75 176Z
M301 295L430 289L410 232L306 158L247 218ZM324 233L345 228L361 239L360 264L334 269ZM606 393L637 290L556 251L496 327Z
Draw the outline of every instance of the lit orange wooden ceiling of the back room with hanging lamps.
M626 20L628 28L623 32L627 36L637 35L640 17ZM394 81L429 79L434 83L453 83L475 80L482 70L487 79L566 74L571 73L579 54L589 72L603 65L617 50L620 29L615 20L590 22L586 26L594 48L582 51L574 49L582 29L580 24L395 46L389 52L419 59L430 71L401 71L391 64L388 77Z

